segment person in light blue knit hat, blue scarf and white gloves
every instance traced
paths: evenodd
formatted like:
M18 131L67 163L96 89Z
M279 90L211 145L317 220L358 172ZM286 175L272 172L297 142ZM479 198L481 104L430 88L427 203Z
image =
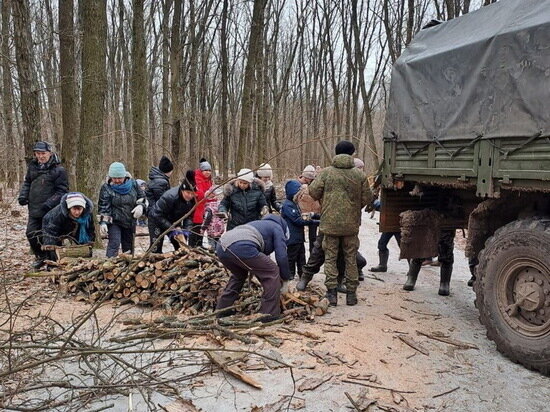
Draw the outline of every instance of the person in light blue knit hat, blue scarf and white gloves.
M98 209L100 232L109 238L107 257L116 256L120 246L123 252L134 253L136 219L146 212L147 199L122 163L109 166L107 182L99 191Z

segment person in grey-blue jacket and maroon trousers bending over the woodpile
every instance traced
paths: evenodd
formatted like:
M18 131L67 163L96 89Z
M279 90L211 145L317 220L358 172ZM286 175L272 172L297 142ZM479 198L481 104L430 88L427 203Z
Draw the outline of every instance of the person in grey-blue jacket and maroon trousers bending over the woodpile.
M268 214L262 220L239 225L222 235L216 255L231 272L231 277L218 299L216 310L233 306L250 273L260 281L263 294L260 312L270 315L263 321L278 319L281 315L280 296L288 291L290 269L286 242L288 226L283 218ZM275 263L269 255L275 252ZM229 316L234 310L220 312Z

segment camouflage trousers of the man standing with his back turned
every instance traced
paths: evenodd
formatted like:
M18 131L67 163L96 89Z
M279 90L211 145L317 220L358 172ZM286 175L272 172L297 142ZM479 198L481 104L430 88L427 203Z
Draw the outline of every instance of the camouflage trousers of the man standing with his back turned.
M341 248L341 249L340 249ZM338 250L343 253L346 264L346 288L349 292L355 292L359 284L357 270L357 251L359 249L359 238L353 236L329 236L323 239L323 250L325 251L325 286L327 289L334 289L338 278Z

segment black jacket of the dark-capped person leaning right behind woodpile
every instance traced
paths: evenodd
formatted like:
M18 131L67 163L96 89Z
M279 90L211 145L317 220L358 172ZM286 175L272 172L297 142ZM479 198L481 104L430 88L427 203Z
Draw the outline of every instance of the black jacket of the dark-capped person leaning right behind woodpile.
M161 232L164 232L172 226L172 223L188 214L193 206L195 206L195 199L185 201L180 195L179 186L173 187L160 197L149 213L149 219L160 228ZM191 220L192 214L179 226L185 227L186 223L191 223Z

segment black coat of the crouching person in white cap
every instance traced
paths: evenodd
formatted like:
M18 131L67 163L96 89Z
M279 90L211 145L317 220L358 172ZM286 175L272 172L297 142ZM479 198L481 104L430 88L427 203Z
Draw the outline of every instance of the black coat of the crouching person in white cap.
M93 242L95 240L93 218L94 204L87 197L84 198L86 199L86 207L81 217L89 217L86 231L88 232L90 241ZM71 241L78 244L79 229L80 224L69 214L69 209L67 208L67 195L64 195L61 198L61 202L46 213L42 220L43 242L45 245L60 246L64 238L69 238Z

